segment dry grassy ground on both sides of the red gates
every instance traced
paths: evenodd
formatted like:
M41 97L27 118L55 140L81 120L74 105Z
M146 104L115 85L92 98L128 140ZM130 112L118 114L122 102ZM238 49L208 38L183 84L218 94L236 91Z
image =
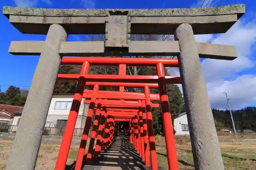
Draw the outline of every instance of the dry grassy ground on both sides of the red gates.
M244 138L246 138L244 136ZM248 137L253 139L253 137ZM254 137L255 138L255 137ZM156 136L158 163L168 169L166 150L164 146L164 138ZM255 170L256 169L256 142L242 142L233 137L224 137L225 142L220 142L222 149L222 158L226 170ZM244 139L246 140L246 139ZM0 170L5 169L8 153L11 150L11 140L0 139ZM36 170L54 170L60 145L42 144L39 150ZM72 144L68 156L67 164L72 164L77 156L79 145ZM181 170L193 170L193 157L191 145L188 137L180 137L176 139L176 149L178 154L178 162Z

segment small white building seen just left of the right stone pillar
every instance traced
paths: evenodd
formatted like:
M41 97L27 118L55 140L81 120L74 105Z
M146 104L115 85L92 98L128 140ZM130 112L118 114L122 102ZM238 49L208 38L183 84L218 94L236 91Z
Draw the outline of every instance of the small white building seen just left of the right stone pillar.
M176 119L174 119L175 135L189 135L188 119L186 112L182 112Z

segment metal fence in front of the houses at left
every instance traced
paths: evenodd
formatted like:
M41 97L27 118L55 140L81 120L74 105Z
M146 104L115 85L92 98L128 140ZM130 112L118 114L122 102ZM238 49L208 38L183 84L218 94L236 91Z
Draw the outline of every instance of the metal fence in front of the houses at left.
M16 133L18 126L14 125L0 125L0 132ZM45 127L43 135L58 135L62 136L65 131L65 127ZM83 129L75 128L73 136L80 137L83 134ZM89 134L91 134L91 129Z

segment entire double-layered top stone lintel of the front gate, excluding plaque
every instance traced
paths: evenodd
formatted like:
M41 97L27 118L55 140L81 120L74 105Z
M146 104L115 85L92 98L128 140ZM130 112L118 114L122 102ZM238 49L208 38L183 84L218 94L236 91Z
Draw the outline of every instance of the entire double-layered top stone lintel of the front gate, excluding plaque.
M127 16L131 34L173 34L182 23L191 24L194 34L210 34L225 33L245 13L245 5L177 9L3 7L10 23L30 34L47 34L51 24L62 25L68 34L105 34L108 18L121 16L120 13Z

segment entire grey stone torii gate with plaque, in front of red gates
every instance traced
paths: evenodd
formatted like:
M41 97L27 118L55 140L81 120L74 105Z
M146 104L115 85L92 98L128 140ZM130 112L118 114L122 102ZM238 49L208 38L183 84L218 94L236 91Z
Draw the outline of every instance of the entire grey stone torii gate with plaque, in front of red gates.
M47 35L45 41L12 41L9 48L11 54L40 59L6 170L35 168L61 57L113 55L178 56L195 169L224 170L199 58L233 60L236 48L197 43L194 35L225 33L244 13L243 4L184 9L3 7L21 33ZM70 42L68 34L106 34L106 40ZM174 34L175 41L130 41L131 34Z

